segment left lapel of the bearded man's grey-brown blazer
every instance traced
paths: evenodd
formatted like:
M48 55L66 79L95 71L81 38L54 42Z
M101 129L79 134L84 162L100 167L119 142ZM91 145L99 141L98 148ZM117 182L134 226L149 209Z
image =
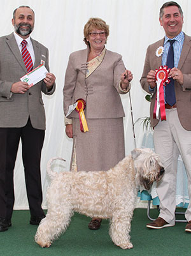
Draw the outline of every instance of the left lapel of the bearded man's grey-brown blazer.
M22 67L25 73L27 73L27 69L25 67L24 61L22 59L22 56L20 54L20 50L18 49L17 41L15 40L15 36L13 33L10 35L6 36L6 43L8 44L8 47L10 47L11 52L17 59L18 63Z

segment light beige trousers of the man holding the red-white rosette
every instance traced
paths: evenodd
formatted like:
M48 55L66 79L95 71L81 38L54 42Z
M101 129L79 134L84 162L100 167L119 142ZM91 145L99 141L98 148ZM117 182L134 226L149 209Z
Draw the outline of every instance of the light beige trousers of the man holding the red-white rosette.
M160 200L160 217L174 224L176 209L176 173L181 154L188 176L188 195L191 198L191 131L185 130L179 121L177 110L166 109L166 121L159 121L153 132L155 152L160 155L165 174L157 186ZM191 203L185 213L191 220Z

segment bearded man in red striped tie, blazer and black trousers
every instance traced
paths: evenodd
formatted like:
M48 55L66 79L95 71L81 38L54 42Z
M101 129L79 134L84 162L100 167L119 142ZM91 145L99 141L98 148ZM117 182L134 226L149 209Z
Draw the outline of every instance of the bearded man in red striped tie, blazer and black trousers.
M34 11L20 6L13 11L15 31L0 38L0 232L11 227L15 201L13 170L18 144L22 142L30 224L38 225L45 213L41 207L41 149L45 137L45 109L41 92L55 91L55 76L47 73L34 86L20 80L43 63L49 72L48 49L30 34Z

